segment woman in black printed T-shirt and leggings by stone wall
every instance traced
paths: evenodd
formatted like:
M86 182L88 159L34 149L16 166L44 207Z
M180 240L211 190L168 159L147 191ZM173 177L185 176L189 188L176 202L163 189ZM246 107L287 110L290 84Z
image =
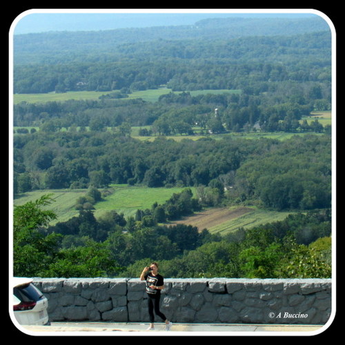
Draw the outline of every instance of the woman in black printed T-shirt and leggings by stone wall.
M146 274L148 273L148 274ZM148 330L155 329L155 310L156 315L166 323L166 331L170 331L172 323L166 316L159 311L159 301L161 299L161 290L164 289L164 278L158 273L157 262L152 262L150 267L145 267L141 272L140 280L146 280L146 293L148 294L148 314L150 315L150 326Z

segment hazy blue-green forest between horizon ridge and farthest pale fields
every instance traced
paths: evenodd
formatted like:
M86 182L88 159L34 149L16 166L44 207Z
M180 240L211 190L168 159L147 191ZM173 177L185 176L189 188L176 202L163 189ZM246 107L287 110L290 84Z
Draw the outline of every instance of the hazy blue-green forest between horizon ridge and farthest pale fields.
M124 43L111 55L69 49L60 60L59 54L50 53L39 63L32 57L26 64L15 64L14 92L145 90L161 85L173 90L239 89L246 82L330 82L330 44L329 32L316 32ZM42 57L38 52L34 56Z

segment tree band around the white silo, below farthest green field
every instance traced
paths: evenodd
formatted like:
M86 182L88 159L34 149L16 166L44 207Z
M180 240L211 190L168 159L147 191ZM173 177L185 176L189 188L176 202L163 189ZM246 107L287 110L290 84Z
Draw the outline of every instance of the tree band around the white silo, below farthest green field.
M21 102L14 105L14 126L37 126L44 132L112 128L128 136L132 126L150 126L146 131L151 135L193 135L200 130L330 132L331 128L322 126L317 119L312 124L300 121L313 110L330 110L330 103L324 98L328 97L326 90L321 85L302 88L283 84L266 95L224 92L192 96L190 92L170 92L155 103L142 99ZM288 93L282 97L281 92Z

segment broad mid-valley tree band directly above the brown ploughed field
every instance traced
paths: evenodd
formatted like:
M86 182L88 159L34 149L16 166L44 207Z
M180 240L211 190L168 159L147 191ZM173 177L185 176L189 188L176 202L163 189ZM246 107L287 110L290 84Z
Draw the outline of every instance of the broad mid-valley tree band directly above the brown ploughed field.
M308 210L331 205L329 135L142 142L111 132L36 132L15 137L14 153L16 194L141 184L208 188L204 200L214 206Z

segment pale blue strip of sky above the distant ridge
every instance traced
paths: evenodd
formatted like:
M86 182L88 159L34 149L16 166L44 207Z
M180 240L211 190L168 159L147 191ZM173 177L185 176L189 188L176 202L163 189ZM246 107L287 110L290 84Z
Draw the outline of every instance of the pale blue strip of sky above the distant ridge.
M29 10L19 14L14 19L11 29L14 34L27 34L47 31L83 31L83 30L112 30L118 28L144 28L149 26L192 25L196 21L206 18L219 17L308 17L308 13L229 13L228 10L199 10L197 13L183 12L184 10L127 10L123 13L92 12L83 13L57 12L58 10ZM61 10L59 10L61 11ZM126 11L126 10L122 10ZM154 12L155 13L152 13ZM270 11L270 10L268 10ZM80 12L80 10L79 10ZM163 13L162 13L163 12ZM174 13L175 12L175 13Z

